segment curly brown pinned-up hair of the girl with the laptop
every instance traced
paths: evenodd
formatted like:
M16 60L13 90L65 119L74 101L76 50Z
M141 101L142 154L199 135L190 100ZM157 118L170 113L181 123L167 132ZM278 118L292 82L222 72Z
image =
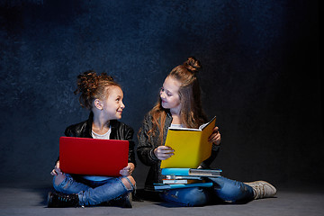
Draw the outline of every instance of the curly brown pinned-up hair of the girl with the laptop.
M91 110L95 99L103 100L109 93L109 87L118 86L112 76L106 73L97 75L94 70L87 70L77 76L77 88L74 94L80 94L79 102L82 107Z

